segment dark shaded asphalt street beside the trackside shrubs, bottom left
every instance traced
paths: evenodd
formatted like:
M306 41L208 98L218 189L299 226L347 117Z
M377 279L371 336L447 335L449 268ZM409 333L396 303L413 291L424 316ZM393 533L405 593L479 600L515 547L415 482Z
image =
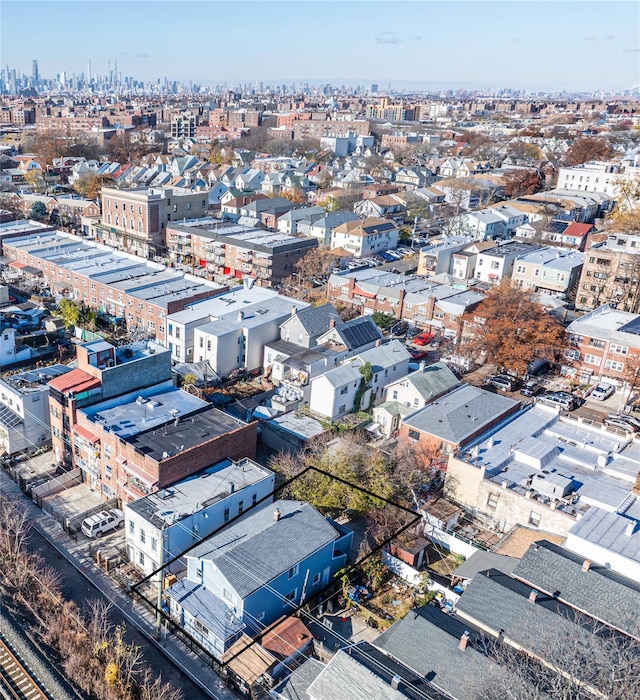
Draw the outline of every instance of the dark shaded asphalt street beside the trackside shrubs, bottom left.
M40 533L32 529L28 548L37 552L51 568L58 571L62 577L62 591L69 600L74 600L80 607L86 601L96 598L108 599L90 581L78 573L72 566ZM163 680L180 688L184 700L211 700L200 688L194 685L184 674L176 668L167 657L150 644L144 635L133 628L117 608L112 608L111 622L115 625L123 625L126 628L125 639L140 647L144 661L156 675L161 675Z

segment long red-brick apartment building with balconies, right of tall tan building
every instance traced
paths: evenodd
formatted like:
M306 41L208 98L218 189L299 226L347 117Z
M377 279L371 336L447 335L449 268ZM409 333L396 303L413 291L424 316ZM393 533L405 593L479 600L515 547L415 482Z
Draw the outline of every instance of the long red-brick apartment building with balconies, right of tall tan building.
M261 287L275 287L290 277L296 263L318 245L312 237L211 220L172 224L167 240L177 262L206 270L216 280L251 277Z

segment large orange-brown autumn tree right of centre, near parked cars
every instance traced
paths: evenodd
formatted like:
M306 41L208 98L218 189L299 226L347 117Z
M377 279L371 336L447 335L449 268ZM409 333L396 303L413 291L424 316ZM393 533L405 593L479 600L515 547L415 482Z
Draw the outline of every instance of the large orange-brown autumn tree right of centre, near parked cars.
M544 312L531 292L508 279L492 287L463 322L472 332L465 342L468 349L516 374L525 374L534 357L555 358L565 346L560 323Z

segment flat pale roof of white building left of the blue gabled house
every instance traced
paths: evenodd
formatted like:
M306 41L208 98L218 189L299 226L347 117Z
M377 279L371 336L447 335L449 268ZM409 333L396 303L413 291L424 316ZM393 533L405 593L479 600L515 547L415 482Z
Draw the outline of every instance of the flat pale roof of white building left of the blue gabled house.
M128 508L157 527L163 527L208 508L229 496L232 489L240 490L271 477L272 471L248 457L238 462L226 459L134 501Z

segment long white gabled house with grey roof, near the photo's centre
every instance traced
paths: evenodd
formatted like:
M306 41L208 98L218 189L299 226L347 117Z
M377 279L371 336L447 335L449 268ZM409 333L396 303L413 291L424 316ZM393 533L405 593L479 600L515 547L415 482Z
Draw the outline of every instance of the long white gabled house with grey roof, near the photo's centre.
M359 353L312 380L309 409L329 420L366 410L380 401L387 383L407 374L410 358L398 340ZM369 381L361 371L367 363L371 366Z

